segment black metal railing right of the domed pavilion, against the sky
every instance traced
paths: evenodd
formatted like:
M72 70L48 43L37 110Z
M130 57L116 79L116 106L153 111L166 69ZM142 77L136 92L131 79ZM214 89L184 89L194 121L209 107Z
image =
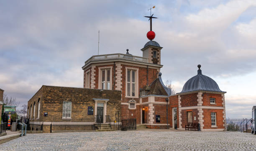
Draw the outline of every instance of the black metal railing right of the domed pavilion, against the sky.
M251 120L248 118L227 118L225 120L225 131L247 131L251 130Z

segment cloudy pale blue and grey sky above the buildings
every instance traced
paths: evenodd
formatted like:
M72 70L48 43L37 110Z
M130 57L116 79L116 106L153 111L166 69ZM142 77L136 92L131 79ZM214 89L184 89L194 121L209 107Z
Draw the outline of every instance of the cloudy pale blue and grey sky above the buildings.
M42 85L83 87L84 61L100 54L142 56L152 30L163 80L180 92L197 74L226 91L227 118L250 118L256 105L255 0L2 0L0 88L20 106Z

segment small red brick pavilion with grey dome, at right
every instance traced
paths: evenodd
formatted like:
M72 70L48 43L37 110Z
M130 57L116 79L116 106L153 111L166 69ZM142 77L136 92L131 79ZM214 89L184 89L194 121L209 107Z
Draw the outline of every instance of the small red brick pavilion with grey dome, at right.
M202 74L201 65L197 67L197 75L184 84L182 92L170 96L171 105L178 105L178 129L185 129L190 122L200 123L201 131L224 131L226 92Z

